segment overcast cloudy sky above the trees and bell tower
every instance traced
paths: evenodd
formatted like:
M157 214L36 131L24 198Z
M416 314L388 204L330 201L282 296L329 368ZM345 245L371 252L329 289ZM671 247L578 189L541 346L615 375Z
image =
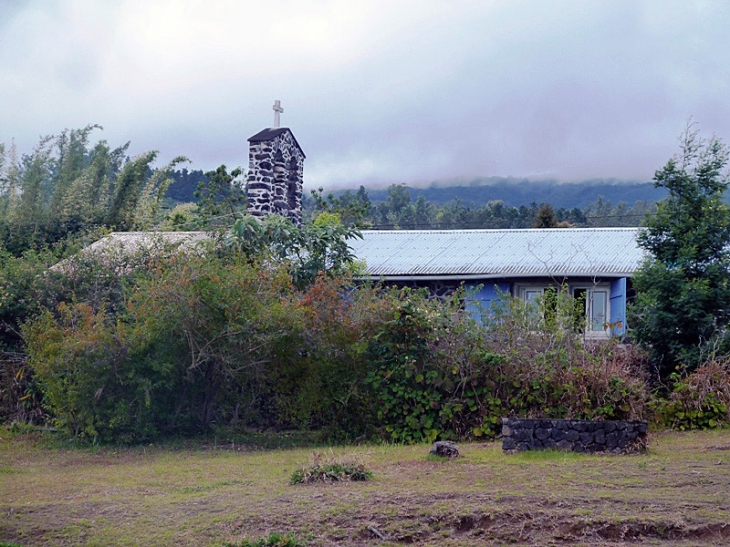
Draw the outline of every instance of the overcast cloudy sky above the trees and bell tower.
M190 168L292 128L308 187L650 180L730 140L725 0L0 0L0 142L100 124Z

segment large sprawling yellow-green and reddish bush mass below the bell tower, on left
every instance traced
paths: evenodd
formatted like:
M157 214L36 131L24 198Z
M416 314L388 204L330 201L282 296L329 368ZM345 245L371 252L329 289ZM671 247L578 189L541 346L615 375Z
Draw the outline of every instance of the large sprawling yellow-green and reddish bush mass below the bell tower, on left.
M213 423L325 428L339 439L367 432L364 340L382 308L375 290L321 276L300 291L285 266L235 251L149 265L121 288L61 303L25 326L57 425L130 442Z

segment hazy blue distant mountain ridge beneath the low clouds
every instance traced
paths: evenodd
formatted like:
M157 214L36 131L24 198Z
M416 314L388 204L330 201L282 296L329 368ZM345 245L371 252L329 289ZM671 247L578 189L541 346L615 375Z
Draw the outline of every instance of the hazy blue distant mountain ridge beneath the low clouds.
M637 201L653 203L667 195L665 189L654 188L651 182L624 182L612 179L557 182L490 177L464 182L435 181L427 187L406 186L414 202L419 195L422 195L426 201L437 205L459 199L469 205L502 201L512 207L549 203L556 209L561 207L584 209L594 203L599 196L613 204L623 201L631 206ZM388 197L387 188L366 186L365 189L374 204L385 201ZM332 193L339 196L346 191L337 190Z

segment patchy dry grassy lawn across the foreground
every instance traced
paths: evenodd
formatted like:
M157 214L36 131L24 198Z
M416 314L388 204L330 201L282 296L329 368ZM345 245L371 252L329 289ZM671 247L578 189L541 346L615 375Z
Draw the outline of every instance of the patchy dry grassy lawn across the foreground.
M730 430L654 433L641 456L461 445L336 447L370 482L289 485L313 449L64 449L0 431L0 545L728 545ZM314 449L329 454L329 449Z

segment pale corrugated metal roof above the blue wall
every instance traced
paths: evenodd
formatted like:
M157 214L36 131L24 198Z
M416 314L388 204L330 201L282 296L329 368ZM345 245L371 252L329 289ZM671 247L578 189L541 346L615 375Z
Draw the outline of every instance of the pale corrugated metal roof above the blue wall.
M644 256L638 230L364 231L349 243L377 277L624 277Z

